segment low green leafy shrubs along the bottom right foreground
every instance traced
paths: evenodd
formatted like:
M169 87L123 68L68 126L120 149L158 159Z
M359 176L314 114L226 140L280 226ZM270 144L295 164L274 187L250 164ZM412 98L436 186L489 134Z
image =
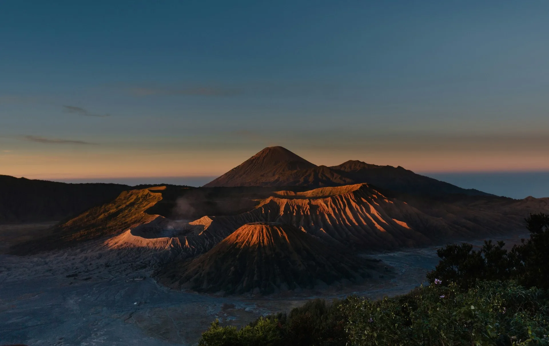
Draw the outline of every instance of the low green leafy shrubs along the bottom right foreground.
M216 321L199 345L549 345L546 291L513 281L483 281L467 291L438 284L377 301L308 304L240 330Z

